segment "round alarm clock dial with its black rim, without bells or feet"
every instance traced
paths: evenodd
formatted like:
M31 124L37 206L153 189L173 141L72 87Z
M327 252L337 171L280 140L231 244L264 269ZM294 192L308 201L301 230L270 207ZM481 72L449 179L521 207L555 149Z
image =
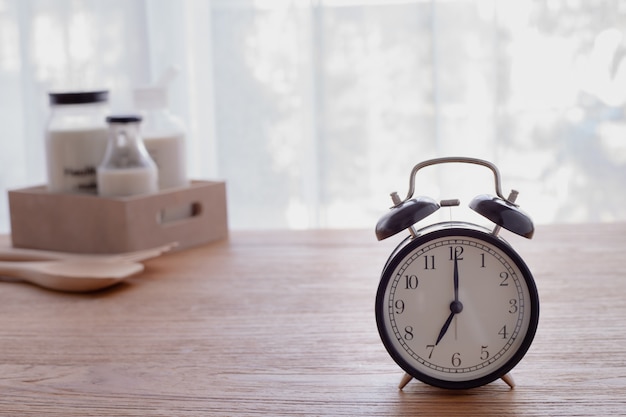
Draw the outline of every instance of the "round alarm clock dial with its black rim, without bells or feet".
M444 388L502 377L535 335L539 298L511 247L472 227L442 227L397 250L376 297L378 330L407 373Z

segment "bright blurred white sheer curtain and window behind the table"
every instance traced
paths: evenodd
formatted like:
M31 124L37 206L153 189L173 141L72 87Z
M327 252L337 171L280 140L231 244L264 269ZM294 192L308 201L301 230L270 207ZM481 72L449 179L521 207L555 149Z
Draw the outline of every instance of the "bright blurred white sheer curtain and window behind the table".
M619 0L0 0L0 233L7 190L46 181L48 91L127 111L171 65L189 176L226 180L233 229L373 229L450 155L536 223L626 221L625 36ZM481 167L416 179L482 193Z

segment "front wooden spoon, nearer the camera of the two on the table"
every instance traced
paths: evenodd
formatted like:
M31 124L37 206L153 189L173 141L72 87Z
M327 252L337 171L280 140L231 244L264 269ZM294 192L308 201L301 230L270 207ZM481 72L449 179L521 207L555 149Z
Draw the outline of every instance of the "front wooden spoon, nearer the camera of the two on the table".
M143 269L143 264L138 262L101 260L0 262L0 275L67 292L90 292L110 287Z

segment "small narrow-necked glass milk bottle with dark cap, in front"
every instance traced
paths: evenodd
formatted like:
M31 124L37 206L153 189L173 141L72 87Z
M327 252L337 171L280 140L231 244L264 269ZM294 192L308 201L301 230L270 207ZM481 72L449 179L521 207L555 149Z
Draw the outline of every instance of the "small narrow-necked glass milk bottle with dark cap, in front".
M97 170L98 194L126 197L158 191L157 167L141 139L141 116L109 116L109 143Z

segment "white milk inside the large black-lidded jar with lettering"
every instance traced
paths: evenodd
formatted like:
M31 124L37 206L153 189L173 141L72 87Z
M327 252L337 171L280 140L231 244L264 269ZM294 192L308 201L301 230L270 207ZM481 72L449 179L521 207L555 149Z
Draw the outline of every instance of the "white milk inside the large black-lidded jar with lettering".
M107 147L106 127L48 130L46 135L48 190L95 193L96 168Z

